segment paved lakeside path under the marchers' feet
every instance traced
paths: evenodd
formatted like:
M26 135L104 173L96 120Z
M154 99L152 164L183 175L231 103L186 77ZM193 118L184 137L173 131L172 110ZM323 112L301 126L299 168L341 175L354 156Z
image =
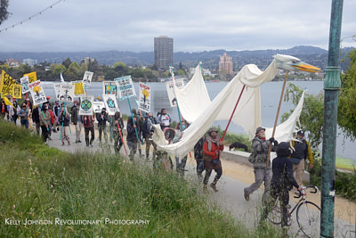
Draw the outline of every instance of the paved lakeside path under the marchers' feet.
M102 145L99 144L98 130L95 130L95 141L93 147L85 146L84 135L81 135L82 143L75 144L76 139L75 139L75 130L73 126L71 126L71 134L69 135L71 145L67 145L66 143L66 145L62 146L59 137L60 137L60 132L53 133L52 141L49 141L47 144L49 146L56 147L66 152L83 152L83 151L105 152L105 153L114 152L113 146L111 144L102 144ZM127 152L129 152L128 148L127 148ZM121 149L120 153L125 156L124 148ZM134 160L141 161L143 163L144 157L140 157L137 152ZM151 167L151 162L150 162L150 167ZM195 183L196 182L195 161L190 160L190 162L187 163L186 169L187 171L185 174L185 178ZM212 182L213 179L214 179L214 172L210 177L210 182ZM212 200L216 201L216 203L225 212L230 213L232 217L235 217L237 220L241 220L244 224L246 224L246 226L250 228L254 228L256 225L256 221L258 220L257 217L259 217L260 214L261 197L263 194L263 190L261 189L251 194L250 201L245 201L243 196L243 189L244 187L247 186L246 183L240 182L237 179L223 175L223 177L221 178L217 186L219 189L218 193L214 193L214 191L210 187L208 188L209 195L212 198ZM292 203L291 205L293 207L295 204ZM295 214L296 212L294 212L293 214L292 217L293 222L292 222L292 226L288 231L288 234L290 235L290 237L305 237L299 231ZM336 219L335 237L355 237L354 232L352 232L355 230L354 227L355 225ZM318 230L316 229L315 237L319 236Z

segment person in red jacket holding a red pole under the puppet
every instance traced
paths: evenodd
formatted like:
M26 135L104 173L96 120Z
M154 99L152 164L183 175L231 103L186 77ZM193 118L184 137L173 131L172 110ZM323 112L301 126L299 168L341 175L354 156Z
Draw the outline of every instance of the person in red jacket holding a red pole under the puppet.
M206 168L203 189L206 191L206 185L209 182L209 177L214 169L216 175L214 177L214 182L210 184L210 186L217 192L216 183L223 175L222 162L220 160L220 151L223 151L223 141L220 140L219 135L217 135L217 130L214 128L210 128L207 134L206 142L203 145L204 167Z

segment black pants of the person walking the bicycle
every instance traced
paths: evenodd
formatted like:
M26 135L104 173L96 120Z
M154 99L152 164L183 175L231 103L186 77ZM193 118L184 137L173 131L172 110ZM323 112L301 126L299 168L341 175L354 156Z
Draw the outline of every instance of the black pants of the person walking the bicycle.
M281 226L287 226L288 224L288 203L289 203L289 189L286 187L281 187L279 185L270 186L270 198L269 201L266 202L266 206L263 209L262 220L266 219L268 214L271 211L273 204L276 202L277 198L279 198L280 208L282 209L282 223Z

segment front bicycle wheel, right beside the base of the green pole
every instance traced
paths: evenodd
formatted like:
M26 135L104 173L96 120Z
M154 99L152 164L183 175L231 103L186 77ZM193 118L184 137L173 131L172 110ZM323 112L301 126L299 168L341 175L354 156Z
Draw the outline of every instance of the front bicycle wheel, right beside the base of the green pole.
M320 208L312 201L299 204L296 209L296 220L303 234L316 237L320 234Z

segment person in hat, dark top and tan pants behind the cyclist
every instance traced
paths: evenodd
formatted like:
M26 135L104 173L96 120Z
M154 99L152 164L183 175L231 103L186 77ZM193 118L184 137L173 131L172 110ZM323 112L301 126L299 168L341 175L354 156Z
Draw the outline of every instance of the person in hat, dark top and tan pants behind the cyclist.
M304 139L303 130L298 130L295 139L292 140L292 150L293 152L290 156L290 159L293 161L293 171L295 172L295 180L299 185L302 185L302 178L305 169L305 160L308 159L310 161L310 169L312 169L314 165L312 148L309 142Z

